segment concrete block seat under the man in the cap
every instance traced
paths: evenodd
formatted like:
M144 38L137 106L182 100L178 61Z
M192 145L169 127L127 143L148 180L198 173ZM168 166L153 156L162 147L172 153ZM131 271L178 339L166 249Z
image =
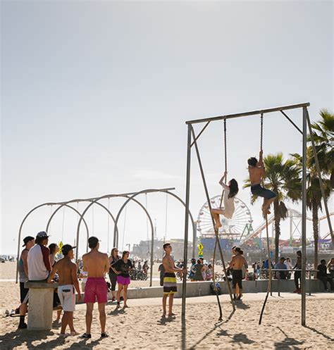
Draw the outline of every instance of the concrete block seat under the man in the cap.
M57 287L58 283L25 282L25 288L29 288L28 330L51 330L54 289Z

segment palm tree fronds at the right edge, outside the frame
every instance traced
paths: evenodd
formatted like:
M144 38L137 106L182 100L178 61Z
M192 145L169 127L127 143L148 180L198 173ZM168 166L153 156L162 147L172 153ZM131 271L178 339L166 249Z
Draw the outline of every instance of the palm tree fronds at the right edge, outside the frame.
M334 114L326 109L320 111L321 120L311 125L316 144L316 154L321 172L330 175L330 185L334 188ZM313 152L309 154L309 165L315 166Z

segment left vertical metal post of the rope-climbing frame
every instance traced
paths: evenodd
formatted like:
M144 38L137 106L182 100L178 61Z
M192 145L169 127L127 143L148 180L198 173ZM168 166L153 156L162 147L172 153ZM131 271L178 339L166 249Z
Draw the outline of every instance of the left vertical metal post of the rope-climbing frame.
M190 199L190 161L192 156L191 141L192 130L191 125L188 125L188 138L187 138L187 175L185 182L185 242L183 243L183 267L187 267L188 260L188 221L189 221L189 199ZM185 326L185 301L187 293L187 275L183 275L182 281L182 323Z

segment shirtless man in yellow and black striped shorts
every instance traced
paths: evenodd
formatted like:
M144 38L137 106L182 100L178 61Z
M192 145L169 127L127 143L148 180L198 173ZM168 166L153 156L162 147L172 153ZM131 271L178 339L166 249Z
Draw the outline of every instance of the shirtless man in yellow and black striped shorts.
M167 296L169 295L169 310L168 310L168 318L172 318L175 316L173 313L173 300L174 294L178 292L176 287L176 277L175 273L179 272L182 276L183 273L187 273L187 268L175 268L174 260L171 256L172 246L170 243L163 244L163 250L165 251L165 256L163 256L162 263L163 268L165 269L165 273L163 275L163 298L162 298L162 308L163 315L162 317L166 317L166 304L167 304Z

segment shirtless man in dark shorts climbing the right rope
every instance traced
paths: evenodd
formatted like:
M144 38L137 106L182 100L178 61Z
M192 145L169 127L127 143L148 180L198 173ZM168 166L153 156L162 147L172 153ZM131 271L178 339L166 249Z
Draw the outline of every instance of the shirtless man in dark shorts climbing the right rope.
M264 170L263 151L260 151L259 161L255 157L248 159L248 171L249 179L251 182L251 192L255 196L264 198L264 204L262 205L262 213L264 218L270 214L269 207L276 198L276 194L270 189L261 187L261 181L266 177L266 171Z

